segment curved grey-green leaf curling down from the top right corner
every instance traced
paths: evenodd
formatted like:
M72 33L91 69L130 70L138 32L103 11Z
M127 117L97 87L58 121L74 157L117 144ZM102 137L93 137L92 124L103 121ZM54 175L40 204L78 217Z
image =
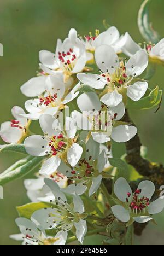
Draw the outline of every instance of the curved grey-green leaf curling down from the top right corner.
M153 29L153 25L149 23L149 4L151 0L145 0L138 13L138 27L143 38L147 42L152 42L154 44L158 43L160 40L159 34Z

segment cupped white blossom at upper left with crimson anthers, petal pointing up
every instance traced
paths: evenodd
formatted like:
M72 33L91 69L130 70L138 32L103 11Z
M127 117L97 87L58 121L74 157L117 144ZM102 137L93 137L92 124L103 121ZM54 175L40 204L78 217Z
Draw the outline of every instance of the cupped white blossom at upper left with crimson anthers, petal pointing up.
M57 40L55 53L42 50L39 60L46 70L62 71L66 83L71 75L83 71L87 61L85 45L77 37L77 31L72 28L63 43L60 39Z

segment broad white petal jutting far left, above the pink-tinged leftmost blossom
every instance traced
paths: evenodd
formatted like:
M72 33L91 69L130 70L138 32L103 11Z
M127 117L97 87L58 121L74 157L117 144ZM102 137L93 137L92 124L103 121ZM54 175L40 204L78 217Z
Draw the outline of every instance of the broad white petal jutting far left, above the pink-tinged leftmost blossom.
M45 91L46 77L33 77L21 86L21 92L27 97L36 97Z

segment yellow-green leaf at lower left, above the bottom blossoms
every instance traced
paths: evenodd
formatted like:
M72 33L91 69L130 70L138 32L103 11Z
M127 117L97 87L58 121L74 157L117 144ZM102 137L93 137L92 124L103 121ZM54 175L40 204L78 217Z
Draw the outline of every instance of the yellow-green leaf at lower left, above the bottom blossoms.
M16 210L19 213L19 217L30 219L32 214L37 210L51 207L51 203L37 202L27 203L27 205L17 206Z

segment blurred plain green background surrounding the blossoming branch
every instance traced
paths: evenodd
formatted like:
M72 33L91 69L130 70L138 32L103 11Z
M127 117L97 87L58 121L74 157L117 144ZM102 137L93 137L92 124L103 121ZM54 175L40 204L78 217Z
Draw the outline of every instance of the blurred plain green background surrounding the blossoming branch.
M150 18L154 27L164 37L163 0L152 1ZM24 107L26 97L21 95L20 86L35 76L38 69L39 50L55 50L57 38L64 39L71 27L80 35L104 30L102 21L118 27L120 33L128 31L137 42L143 42L137 27L137 13L142 0L1 0L0 3L0 43L4 45L4 57L0 57L0 123L10 120L10 109L17 105ZM163 85L164 67L158 67L149 86ZM154 110L131 112L142 142L149 148L149 158L162 162L164 103L154 114ZM34 127L36 124L32 124ZM37 128L38 129L38 128ZM3 142L0 141L0 144ZM115 155L124 153L124 146L115 145ZM14 153L0 156L0 172L20 159ZM164 184L163 184L164 185ZM0 200L0 245L19 244L9 239L18 232L14 219L15 206L27 203L23 180L4 186L4 200ZM156 218L158 226L149 224L142 237L136 237L139 245L164 245L164 213ZM88 238L87 238L88 241ZM98 243L98 237L91 237L89 244Z

